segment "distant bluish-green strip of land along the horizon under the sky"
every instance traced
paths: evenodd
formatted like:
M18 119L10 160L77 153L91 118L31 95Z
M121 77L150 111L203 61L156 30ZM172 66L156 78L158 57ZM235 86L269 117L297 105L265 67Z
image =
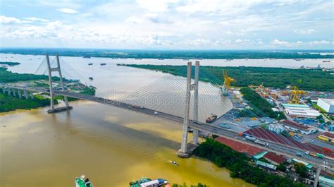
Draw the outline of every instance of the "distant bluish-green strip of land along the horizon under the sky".
M130 59L333 59L333 50L140 50L3 48L0 53ZM322 54L321 54L322 53ZM328 54L329 53L329 54Z

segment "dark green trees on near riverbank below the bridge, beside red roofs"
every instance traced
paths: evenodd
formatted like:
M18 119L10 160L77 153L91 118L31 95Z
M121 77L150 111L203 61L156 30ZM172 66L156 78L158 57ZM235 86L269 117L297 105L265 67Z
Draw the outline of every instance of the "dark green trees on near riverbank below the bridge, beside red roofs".
M247 183L252 183L259 187L302 187L302 183L294 183L287 177L268 174L263 169L249 163L250 159L245 155L232 150L230 147L218 143L216 140L206 138L196 150L194 156L214 162L218 167L225 167L230 170L232 178L239 178Z

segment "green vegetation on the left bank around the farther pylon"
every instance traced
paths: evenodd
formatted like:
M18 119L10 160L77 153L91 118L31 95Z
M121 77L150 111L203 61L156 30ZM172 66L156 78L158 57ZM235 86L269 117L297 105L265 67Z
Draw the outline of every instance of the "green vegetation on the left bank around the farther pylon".
M33 86L49 88L47 83L41 83L40 80L48 80L49 77L45 75L35 75L30 73L12 73L7 71L7 68L0 67L0 81L1 83L16 83L22 81L31 81ZM59 81L58 77L52 77L52 80ZM92 87L86 87L79 90L80 94L95 95L95 89ZM36 109L39 107L47 107L50 105L50 99L46 98L48 95L34 95L34 99L19 99L8 95L7 93L0 93L0 113L7 111L15 111L16 109ZM58 99L63 99L63 96L54 97L54 104L58 104ZM78 99L68 97L68 101L76 101Z

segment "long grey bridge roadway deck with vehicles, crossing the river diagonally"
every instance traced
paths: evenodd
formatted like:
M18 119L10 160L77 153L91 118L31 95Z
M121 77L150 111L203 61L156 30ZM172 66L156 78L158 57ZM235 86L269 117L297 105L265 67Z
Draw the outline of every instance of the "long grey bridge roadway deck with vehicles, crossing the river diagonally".
M0 87L6 87L6 88L12 88L12 89L19 89L19 90L28 90L28 91L32 91L32 92L45 92L45 93L49 93L49 90L46 88L32 88L32 87L22 87L22 86L14 86L14 85L2 85L0 84ZM169 121L173 121L175 123L183 123L183 118L180 116L174 116L172 114L166 114L163 113L161 111L154 111L152 109L147 109L145 107L138 107L138 106L133 106L132 104L127 104L124 102L118 102L116 100L112 100L112 99L104 99L101 97L95 97L92 95L82 95L82 94L78 94L78 93L74 93L74 92L66 92L66 91L59 91L59 90L55 90L54 91L55 95L63 95L63 96L67 96L67 97L73 97L73 98L77 98L77 99L84 99L84 100L88 100L91 102L97 102L97 103L101 103L101 104L107 104L107 105L111 105L113 107L118 107L121 109L128 109L130 111L136 111L138 113L141 114L147 114L150 116L155 116L161 119L167 119ZM233 140L236 140L238 142L241 143L246 143L248 145L252 145L252 146L256 146L259 147L261 149L264 150L268 150L271 152L278 152L280 153L280 155L285 155L287 157L296 157L295 154L296 152L305 152L306 150L301 150L297 147L290 147L287 145L282 145L280 143L274 143L268 140L262 140L265 142L268 142L269 145L264 147L262 145L256 144L254 142L251 141L245 141L242 140L242 137L237 135L237 132L233 132L233 131L229 131L228 129L225 128L221 128L218 126L212 126L209 123L196 123L192 120L189 121L189 126L192 128L196 128L199 129L200 131L206 131L208 133L214 134L214 135L220 135L223 136L225 138L230 138ZM259 138L258 138L259 139ZM259 139L261 140L261 139ZM323 167L323 169L325 169L326 167L328 169L334 169L334 159L330 159L328 157L320 159L320 158L316 158L316 157L311 157L309 155L303 155L303 157L297 157L297 159L299 160L303 160L305 162L309 162L311 164L314 164L314 166L317 167ZM326 167L325 167L326 166Z

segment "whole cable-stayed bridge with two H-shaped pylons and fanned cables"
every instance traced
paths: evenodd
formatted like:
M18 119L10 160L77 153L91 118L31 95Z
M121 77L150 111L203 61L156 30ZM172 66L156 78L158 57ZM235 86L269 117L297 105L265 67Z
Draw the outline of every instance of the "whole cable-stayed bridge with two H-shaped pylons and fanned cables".
M62 64L60 63L62 62ZM62 68L60 67L62 65ZM66 64L66 63L64 63ZM164 76L159 80L156 80L149 85L136 90L135 92L131 92L128 95L124 95L123 97L118 97L114 99L106 99L102 97L95 97L92 95L82 95L75 92L69 92L68 90L54 90L53 83L51 80L52 71L56 71L59 73L59 76L62 79L62 76L66 78L74 77L74 73L69 73L69 71L74 71L73 68L64 68L63 61L60 61L58 56L53 61L49 61L49 57L47 56L44 61L40 64L39 68L37 68L36 73L42 72L48 73L49 85L50 88L35 88L35 87L23 87L18 85L0 85L3 89L3 92L8 92L8 94L16 94L18 97L29 97L27 92L44 92L51 95L51 98L54 95L62 95L66 97L73 97L78 99L85 99L91 102L97 102L101 104L107 104L113 107L118 107L120 109L128 109L131 111L136 111L141 114L147 114L150 116L158 117L161 119L166 119L169 121L173 121L175 123L183 123L184 124L184 139L183 140L183 150L181 152L187 153L187 129L188 126L193 128L195 131L205 131L214 135L222 135L226 138L233 138L234 140L240 141L242 143L251 144L256 147L262 147L266 150L271 150L273 152L279 152L282 155L287 155L289 157L294 157L296 152L304 152L299 147L295 147L293 143L291 145L283 145L276 142L271 142L270 140L264 140L269 143L267 147L263 147L261 145L245 142L239 139L236 139L238 132L229 131L226 128L221 128L219 126L213 126L209 123L203 123L199 121L204 121L205 117L208 116L211 111L215 111L216 114L221 115L226 111L233 108L232 102L226 97L222 97L220 94L220 90L218 87L212 86L209 83L191 83L192 82L192 64L188 63L187 66L187 78L179 78L175 76ZM196 66L195 66L196 67ZM199 71L199 63L196 67L197 71ZM75 72L75 71L74 71ZM196 72L196 71L195 71ZM68 76L69 75L69 76ZM196 76L196 73L195 73ZM202 78L213 78L214 75L206 74L206 72L198 72L198 76ZM197 76L197 80L198 80ZM195 78L196 80L196 78ZM62 84L62 83L61 83ZM61 85L63 87L63 85ZM22 94L22 90L24 95ZM196 91L198 96L191 95L190 92ZM197 97L197 98L196 98ZM225 98L225 99L222 99ZM51 99L52 101L53 99ZM195 102L197 101L197 102ZM195 109L194 106L198 106ZM69 104L66 102L66 107L61 108L69 109ZM53 106L51 103L51 111L57 111L57 108ZM256 109L252 111L248 111L249 113L256 113L255 115L262 115L266 117L261 111L257 111ZM196 114L197 113L197 114ZM187 114L187 116L185 116ZM250 114L249 114L250 115ZM193 120L190 120L193 119ZM194 136L195 137L195 136ZM193 138L193 142L196 142L197 136ZM318 159L314 157L305 156L302 158L303 160L310 162L316 165L323 165L326 162L328 166L334 166L334 162L332 159Z

